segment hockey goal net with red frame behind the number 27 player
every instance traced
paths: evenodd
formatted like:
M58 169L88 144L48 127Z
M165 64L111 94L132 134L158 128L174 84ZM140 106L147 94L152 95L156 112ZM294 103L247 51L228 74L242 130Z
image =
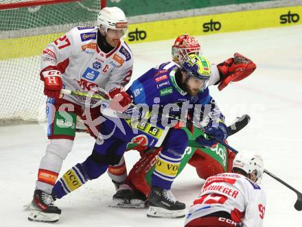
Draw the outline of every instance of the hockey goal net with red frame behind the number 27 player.
M96 25L100 4L101 0L0 1L0 125L44 119L40 54L71 28Z

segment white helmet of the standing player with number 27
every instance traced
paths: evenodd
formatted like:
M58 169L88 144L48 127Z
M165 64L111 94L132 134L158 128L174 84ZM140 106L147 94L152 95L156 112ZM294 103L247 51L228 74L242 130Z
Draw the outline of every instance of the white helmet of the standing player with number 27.
M97 16L97 26L104 28L107 32L108 28L123 30L123 34L126 34L128 28L128 21L126 16L120 8L117 7L105 7L102 8L99 15Z

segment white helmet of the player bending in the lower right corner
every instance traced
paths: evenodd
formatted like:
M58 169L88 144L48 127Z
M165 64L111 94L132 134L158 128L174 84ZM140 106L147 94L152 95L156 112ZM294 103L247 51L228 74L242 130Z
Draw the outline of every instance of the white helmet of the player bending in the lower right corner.
M260 184L264 174L264 163L259 154L239 153L233 160L233 169L242 169L256 184Z

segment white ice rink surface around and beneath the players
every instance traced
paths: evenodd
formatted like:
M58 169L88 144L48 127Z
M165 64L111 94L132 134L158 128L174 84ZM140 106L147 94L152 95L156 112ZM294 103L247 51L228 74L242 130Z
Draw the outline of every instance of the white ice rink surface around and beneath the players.
M229 138L239 151L259 152L266 169L302 191L302 27L261 29L251 32L197 37L202 52L211 62L220 63L234 52L253 59L257 69L251 77L231 84L222 92L211 88L226 115L227 123L247 113L248 127ZM135 55L134 76L159 62L170 60L173 41L131 45ZM38 80L38 79L37 79ZM40 158L47 139L37 125L0 128L0 226L47 226L27 221ZM94 140L88 134L77 134L73 151L62 167L62 173L91 154ZM138 152L127 152L128 171L139 159ZM176 178L172 192L187 206L198 195L200 180L194 168L187 166ZM297 226L301 212L294 210L296 194L276 180L264 175L267 195L264 226ZM60 226L183 226L184 219L146 217L146 209L108 208L115 188L110 178L87 182L84 187L56 201L62 208Z

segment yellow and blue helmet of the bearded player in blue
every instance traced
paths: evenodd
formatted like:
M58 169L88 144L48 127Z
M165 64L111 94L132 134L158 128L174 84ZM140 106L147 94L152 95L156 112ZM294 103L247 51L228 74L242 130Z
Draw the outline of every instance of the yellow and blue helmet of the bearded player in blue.
M194 77L197 80L209 80L211 76L211 65L204 56L189 54L183 62L183 70L187 73L187 79Z

